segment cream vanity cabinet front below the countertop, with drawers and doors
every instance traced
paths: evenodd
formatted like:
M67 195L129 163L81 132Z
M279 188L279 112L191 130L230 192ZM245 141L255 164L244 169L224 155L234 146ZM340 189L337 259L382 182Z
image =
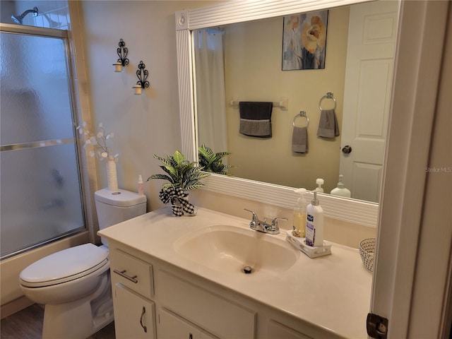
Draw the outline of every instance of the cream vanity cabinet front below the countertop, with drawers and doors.
M116 242L110 261L117 339L336 338Z

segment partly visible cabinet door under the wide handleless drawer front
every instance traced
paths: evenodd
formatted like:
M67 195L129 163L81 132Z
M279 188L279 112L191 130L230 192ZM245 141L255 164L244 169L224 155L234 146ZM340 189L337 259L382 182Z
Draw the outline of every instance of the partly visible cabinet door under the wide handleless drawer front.
M160 339L201 339L199 328L166 309L160 309L158 319Z

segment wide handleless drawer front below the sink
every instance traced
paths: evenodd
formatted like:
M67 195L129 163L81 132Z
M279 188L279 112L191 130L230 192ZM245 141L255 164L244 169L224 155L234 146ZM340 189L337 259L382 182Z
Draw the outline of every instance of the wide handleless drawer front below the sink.
M165 270L157 273L156 290L164 307L213 335L255 338L256 311L214 295Z

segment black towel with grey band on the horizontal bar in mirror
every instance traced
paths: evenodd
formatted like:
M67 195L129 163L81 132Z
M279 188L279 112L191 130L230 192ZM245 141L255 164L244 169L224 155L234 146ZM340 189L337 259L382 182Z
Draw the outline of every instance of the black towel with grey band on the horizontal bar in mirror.
M273 102L239 102L240 130L246 136L271 137Z

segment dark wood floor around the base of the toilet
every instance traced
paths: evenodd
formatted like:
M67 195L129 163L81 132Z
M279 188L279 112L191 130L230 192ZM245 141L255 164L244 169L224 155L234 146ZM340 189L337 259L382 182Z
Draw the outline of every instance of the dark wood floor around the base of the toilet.
M44 309L33 304L5 319L1 319L1 339L41 339ZM64 339L64 338L61 338ZM115 339L114 323L110 323L88 339Z

